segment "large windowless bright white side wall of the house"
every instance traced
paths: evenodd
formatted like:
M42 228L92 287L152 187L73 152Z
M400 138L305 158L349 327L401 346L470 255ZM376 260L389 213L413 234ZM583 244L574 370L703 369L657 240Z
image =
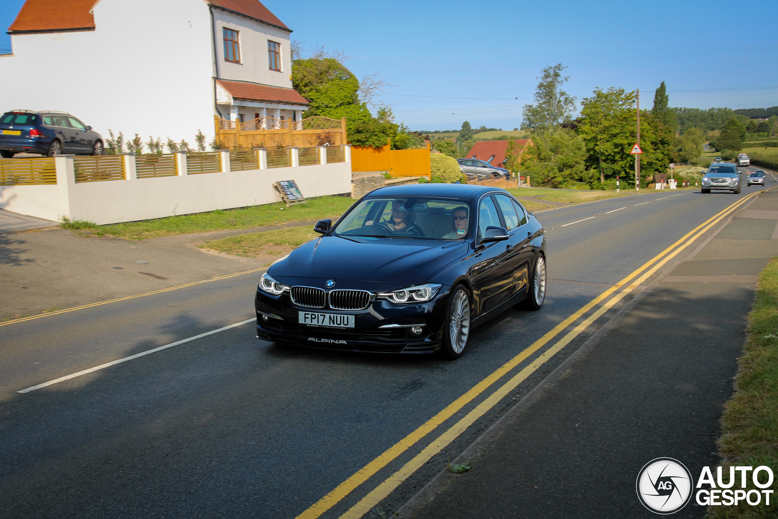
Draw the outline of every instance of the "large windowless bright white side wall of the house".
M101 0L94 19L94 31L12 35L13 55L0 58L0 111L65 110L106 139L110 128L194 144L202 129L210 141L208 5Z

